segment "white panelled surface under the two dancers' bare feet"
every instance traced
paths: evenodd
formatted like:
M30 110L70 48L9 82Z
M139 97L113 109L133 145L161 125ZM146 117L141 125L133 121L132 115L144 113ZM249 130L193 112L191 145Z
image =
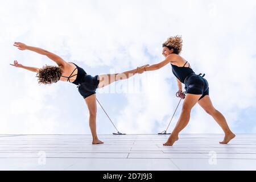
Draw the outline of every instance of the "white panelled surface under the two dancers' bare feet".
M256 134L0 135L0 170L256 170Z

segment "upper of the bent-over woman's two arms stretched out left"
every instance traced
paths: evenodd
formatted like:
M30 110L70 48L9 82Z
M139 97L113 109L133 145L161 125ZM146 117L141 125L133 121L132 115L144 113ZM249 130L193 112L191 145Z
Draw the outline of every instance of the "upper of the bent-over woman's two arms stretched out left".
M20 42L15 42L14 46L18 47L18 49L22 50L22 51L30 50L30 51L34 51L36 53L40 53L41 55L45 55L45 56L49 57L49 59L55 61L55 63L57 63L57 65L59 65L59 66L65 67L65 65L67 65L67 62L64 61L61 57L55 55L52 52L46 51L42 48L27 46L26 44L20 43Z

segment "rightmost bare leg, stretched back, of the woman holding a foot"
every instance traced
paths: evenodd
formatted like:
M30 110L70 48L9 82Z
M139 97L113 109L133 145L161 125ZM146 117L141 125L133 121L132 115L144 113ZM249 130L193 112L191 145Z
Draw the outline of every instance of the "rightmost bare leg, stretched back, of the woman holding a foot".
M221 129L225 133L225 137L221 144L227 144L230 140L232 140L234 137L236 137L235 134L232 133L232 131L229 129L228 123L226 122L226 119L224 115L220 113L220 111L216 110L213 105L212 101L210 101L209 96L204 96L199 102L199 105L203 107L203 109L212 117L215 119L215 121L220 125Z

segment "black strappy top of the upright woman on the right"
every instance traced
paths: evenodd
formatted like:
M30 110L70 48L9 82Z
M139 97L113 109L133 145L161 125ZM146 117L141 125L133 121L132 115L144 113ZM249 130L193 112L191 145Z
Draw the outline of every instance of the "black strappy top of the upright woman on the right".
M188 63L188 61L183 65L183 67L177 67L176 65L172 65L172 73L174 73L174 75L176 76L176 78L178 78L180 80L181 83L184 84L185 82L185 78L189 75L191 75L193 72L193 69L189 68L189 64L188 67L185 67L185 65Z

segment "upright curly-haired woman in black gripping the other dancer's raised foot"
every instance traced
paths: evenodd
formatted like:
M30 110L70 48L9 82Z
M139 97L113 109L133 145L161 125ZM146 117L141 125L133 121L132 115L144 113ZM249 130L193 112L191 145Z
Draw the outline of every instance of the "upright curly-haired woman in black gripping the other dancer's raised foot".
M163 43L163 52L162 55L166 58L164 61L153 64L148 67L139 69L139 72L142 71L154 71L160 69L167 65L171 64L172 73L174 73L177 78L177 85L179 91L177 96L185 99L182 106L182 111L180 118L177 121L175 129L172 131L167 142L164 143L164 146L172 146L176 140L179 139L178 135L181 130L187 126L190 118L191 109L198 103L203 109L215 119L218 125L221 126L222 130L225 133L224 140L220 142L221 144L228 143L231 139L236 137L235 134L229 129L228 123L226 122L225 117L216 110L209 97L209 87L208 82L205 80L204 75L196 75L193 72L191 65L183 57L180 56L182 48L182 39L181 36L170 37ZM182 91L181 83L185 84L185 93Z

